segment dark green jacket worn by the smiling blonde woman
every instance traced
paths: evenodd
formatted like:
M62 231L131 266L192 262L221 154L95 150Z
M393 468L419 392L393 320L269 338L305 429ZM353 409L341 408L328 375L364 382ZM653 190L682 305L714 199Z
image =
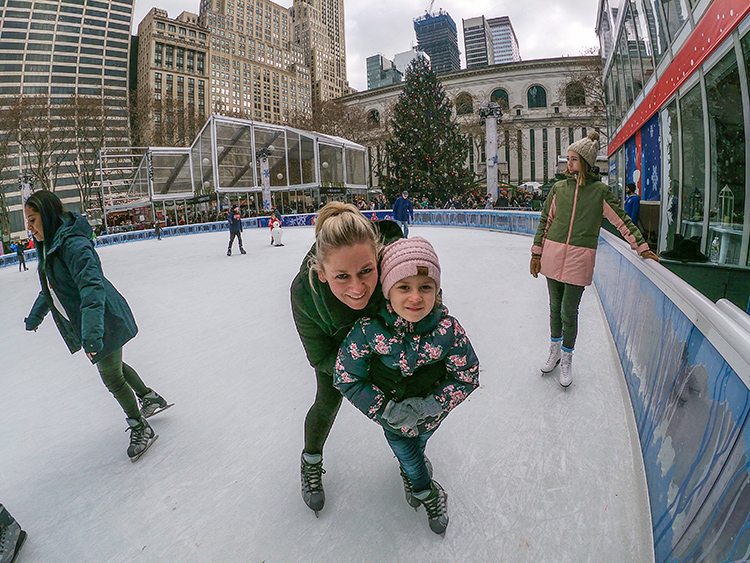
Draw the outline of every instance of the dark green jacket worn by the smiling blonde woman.
M376 221L374 224L384 244L403 237L401 228L393 221ZM318 280L317 276L312 276L311 283L309 262L314 250L313 245L292 281L292 315L310 365L333 378L336 355L344 338L357 319L374 316L384 306L385 298L378 281L367 307L355 311L339 301L328 284Z

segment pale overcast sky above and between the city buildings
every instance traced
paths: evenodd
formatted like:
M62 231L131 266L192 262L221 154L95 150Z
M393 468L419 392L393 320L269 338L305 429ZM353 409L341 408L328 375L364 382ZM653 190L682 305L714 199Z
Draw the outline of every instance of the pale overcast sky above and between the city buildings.
M291 7L292 0L277 3ZM153 5L153 0L136 0L134 33ZM199 0L159 0L156 5L167 10L170 18L185 10L196 14L200 10ZM412 20L424 15L428 5L429 0L345 2L347 78L353 88L367 89L367 57L381 54L393 59L416 45ZM524 60L576 56L586 47L599 45L594 33L598 5L598 0L435 0L432 12L442 8L456 22L464 68L462 19L510 16Z

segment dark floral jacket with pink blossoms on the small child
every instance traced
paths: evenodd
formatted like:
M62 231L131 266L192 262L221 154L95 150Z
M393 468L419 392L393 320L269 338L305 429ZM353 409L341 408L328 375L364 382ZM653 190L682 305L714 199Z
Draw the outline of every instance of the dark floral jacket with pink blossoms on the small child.
M381 426L416 436L437 428L479 386L479 360L463 327L442 305L411 323L387 303L377 317L352 327L339 349L333 384ZM416 432L391 428L382 419L389 400L430 394L443 412L420 421Z

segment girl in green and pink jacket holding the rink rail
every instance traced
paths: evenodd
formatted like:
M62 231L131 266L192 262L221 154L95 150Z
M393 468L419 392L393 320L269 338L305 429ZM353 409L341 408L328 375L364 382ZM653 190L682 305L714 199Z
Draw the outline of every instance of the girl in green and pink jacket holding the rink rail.
M578 305L591 285L602 217L620 231L643 258L659 261L620 207L609 186L591 168L599 153L599 133L592 131L568 147L566 178L552 186L531 247L531 275L547 278L550 306L549 357L542 373L560 365L560 385L573 381L573 347L578 332Z

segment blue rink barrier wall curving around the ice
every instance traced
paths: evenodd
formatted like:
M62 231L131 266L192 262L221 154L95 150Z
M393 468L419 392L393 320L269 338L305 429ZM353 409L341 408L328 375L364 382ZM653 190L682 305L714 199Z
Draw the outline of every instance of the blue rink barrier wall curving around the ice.
M371 219L392 217L390 210L365 214ZM286 215L283 226L312 225L314 218ZM538 212L446 209L415 211L413 224L532 235L538 221ZM244 219L242 224L246 229L267 228L268 218ZM227 229L225 221L165 227L161 236ZM98 237L96 244L155 236L153 230L119 233ZM35 257L36 251L27 251L27 261ZM15 264L15 254L0 256L0 267ZM638 429L655 561L747 561L750 316L728 301L712 303L604 230L594 284Z

